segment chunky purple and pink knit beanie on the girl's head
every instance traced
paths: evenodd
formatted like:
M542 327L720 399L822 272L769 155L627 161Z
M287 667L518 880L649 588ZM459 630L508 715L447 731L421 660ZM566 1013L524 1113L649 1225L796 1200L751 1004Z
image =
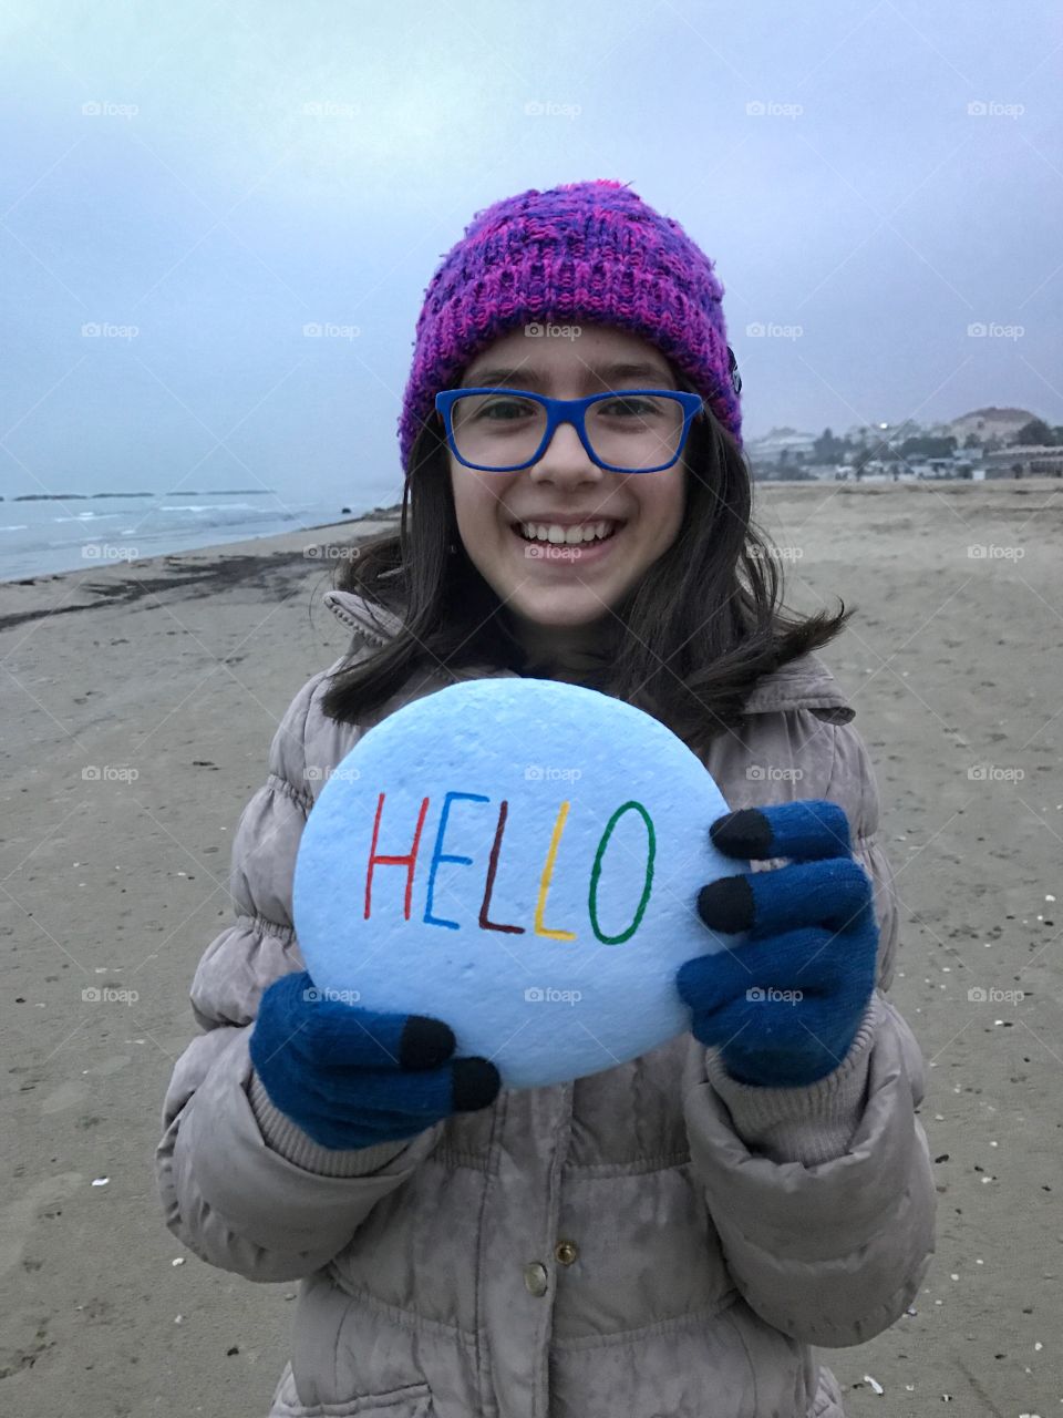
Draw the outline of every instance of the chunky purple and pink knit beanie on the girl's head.
M655 345L741 447L741 380L724 288L672 217L618 182L523 191L478 211L428 284L403 396L403 468L435 396L507 330L530 322L614 325Z

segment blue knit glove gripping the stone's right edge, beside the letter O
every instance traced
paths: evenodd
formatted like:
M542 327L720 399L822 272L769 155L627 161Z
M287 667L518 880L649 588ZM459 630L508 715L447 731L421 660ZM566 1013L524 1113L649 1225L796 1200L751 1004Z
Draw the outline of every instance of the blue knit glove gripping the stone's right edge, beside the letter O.
M879 927L849 820L833 803L782 803L727 813L709 837L729 856L798 861L702 888L706 926L748 940L680 966L692 1032L738 1082L814 1083L849 1052L874 990Z

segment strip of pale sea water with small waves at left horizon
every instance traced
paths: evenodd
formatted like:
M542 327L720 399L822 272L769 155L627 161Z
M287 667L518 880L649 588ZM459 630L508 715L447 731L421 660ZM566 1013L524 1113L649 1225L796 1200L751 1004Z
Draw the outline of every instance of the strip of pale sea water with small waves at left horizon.
M357 516L376 503L278 498L272 493L153 493L0 502L0 581L92 571L146 556L298 532Z

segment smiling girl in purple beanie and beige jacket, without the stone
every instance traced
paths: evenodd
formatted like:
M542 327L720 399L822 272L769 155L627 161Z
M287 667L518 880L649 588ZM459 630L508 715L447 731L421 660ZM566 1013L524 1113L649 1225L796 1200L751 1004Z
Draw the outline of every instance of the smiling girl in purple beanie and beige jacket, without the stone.
M877 790L815 654L848 613L781 610L721 295L614 182L479 213L428 288L401 532L326 593L354 642L241 818L157 1150L190 1249L302 1282L272 1418L840 1418L809 1346L887 1329L930 1263ZM736 872L697 902L747 940L679 971L689 1034L568 1086L499 1090L445 1021L305 995L320 784L384 715L483 675L639 705L734 810L712 835Z

